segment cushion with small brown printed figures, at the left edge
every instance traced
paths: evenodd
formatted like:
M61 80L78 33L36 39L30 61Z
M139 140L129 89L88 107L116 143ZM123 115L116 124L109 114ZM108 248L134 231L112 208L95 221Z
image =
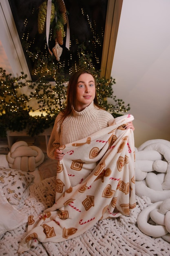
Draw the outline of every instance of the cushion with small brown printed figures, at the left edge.
M19 204L34 176L18 169L0 167L0 185L10 204Z

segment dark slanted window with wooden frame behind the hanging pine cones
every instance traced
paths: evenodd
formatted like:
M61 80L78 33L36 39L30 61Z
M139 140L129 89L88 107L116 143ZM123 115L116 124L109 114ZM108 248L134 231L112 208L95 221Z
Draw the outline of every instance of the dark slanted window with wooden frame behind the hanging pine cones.
M31 52L39 48L42 54L49 54L46 47L46 34L38 33L38 11L44 0L0 0L4 32L1 37L8 40L4 47L13 47L13 61L10 51L5 49L11 65L20 68L25 74L30 74L31 79L36 78L34 61L29 58L25 43L29 44ZM92 55L95 68L102 70L102 76L110 77L113 55L119 26L122 0L64 0L68 11L70 26L70 49L64 44L63 51L56 65L60 65L68 74L76 70L79 65L79 48L84 43L86 53ZM66 26L64 27L66 32ZM49 48L55 45L53 28L50 30ZM10 38L10 39L9 39ZM18 63L18 65L16 65ZM15 72L16 73L16 72Z

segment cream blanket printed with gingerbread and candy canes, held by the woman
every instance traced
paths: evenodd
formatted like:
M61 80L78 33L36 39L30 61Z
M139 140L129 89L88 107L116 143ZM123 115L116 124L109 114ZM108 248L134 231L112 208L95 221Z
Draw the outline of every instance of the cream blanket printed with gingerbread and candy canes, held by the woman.
M80 236L99 220L128 216L136 206L133 132L124 126L131 115L93 135L61 146L55 204L40 216L30 216L28 234L19 253L35 240L62 242Z

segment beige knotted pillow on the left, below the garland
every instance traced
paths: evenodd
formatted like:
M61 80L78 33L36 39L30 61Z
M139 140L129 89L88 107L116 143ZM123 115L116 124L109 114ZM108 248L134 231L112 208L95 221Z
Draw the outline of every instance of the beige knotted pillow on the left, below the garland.
M28 146L25 141L17 141L7 155L9 166L21 171L35 171L44 161L44 153L37 146Z

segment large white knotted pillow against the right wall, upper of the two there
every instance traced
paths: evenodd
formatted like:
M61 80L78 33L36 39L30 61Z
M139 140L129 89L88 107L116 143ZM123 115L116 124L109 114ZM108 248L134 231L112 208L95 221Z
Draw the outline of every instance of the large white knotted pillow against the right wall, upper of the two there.
M135 190L151 202L170 198L170 141L155 139L136 148Z

